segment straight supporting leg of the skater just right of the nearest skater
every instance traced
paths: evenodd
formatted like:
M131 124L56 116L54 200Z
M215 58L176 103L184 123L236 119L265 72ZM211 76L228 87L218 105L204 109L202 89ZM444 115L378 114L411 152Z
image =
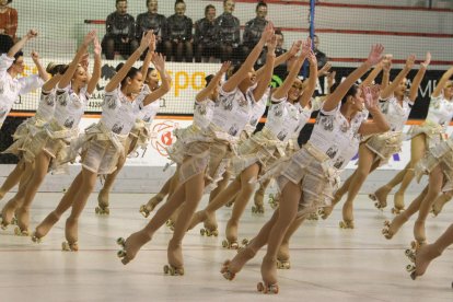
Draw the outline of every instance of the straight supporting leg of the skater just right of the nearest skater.
M360 144L359 166L357 167L355 176L351 179L351 184L349 185L348 198L342 206L342 221L340 221L340 228L342 229L353 229L352 204L363 182L372 171L372 167L375 169L378 166L376 164L373 166L374 159L375 154L370 151L364 143Z

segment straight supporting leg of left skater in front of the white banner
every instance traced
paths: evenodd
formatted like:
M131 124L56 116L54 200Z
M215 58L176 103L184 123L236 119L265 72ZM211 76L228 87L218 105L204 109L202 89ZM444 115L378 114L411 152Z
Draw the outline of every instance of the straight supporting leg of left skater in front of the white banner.
M82 167L82 185L73 197L71 213L66 220L63 251L78 251L79 218L85 208L86 200L96 184L97 174Z

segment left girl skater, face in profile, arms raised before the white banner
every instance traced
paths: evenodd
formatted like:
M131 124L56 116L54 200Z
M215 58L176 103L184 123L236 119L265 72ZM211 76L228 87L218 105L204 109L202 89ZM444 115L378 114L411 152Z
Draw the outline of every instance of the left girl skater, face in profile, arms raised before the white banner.
M57 208L36 228L33 241L39 241L61 214L71 208L66 221L63 251L78 251L78 224L80 214L93 190L97 175L111 174L116 170L118 160L125 156L127 138L140 111L164 95L170 86L165 62L162 56L153 56L153 63L162 76L162 86L154 92L142 90L141 72L132 65L150 46L154 51L155 37L152 31L142 38L140 47L129 57L123 68L105 86L105 98L101 120L85 129L74 149L82 149L82 171L77 175Z

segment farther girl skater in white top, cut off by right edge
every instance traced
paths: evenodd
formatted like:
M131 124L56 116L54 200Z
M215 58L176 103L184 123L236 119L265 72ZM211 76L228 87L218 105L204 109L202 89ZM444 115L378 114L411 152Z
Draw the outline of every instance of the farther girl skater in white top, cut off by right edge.
M415 165L429 148L446 138L446 127L453 117L453 82L449 81L452 76L453 68L450 68L442 76L431 94L428 116L425 123L420 126L413 126L407 133L408 138L411 139L410 162L391 182L374 193L380 208L386 206L388 193L399 183L402 185L394 196L394 204L397 210L400 205L404 205L404 193L414 178ZM438 202L437 213L440 211L440 205L442 205L441 201Z

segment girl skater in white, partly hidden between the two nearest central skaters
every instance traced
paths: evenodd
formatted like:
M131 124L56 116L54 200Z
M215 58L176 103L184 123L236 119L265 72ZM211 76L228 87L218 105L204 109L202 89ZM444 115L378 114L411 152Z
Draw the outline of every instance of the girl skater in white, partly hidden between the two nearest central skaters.
M306 42L302 46L302 54L291 68L290 74L271 96L272 105L269 109L267 121L262 131L253 135L244 141L239 148L239 155L232 160L232 172L240 175L222 193L220 193L205 210L197 212L189 228L205 221L212 216L213 211L225 205L232 195L236 195L233 212L228 221L225 235L226 241L222 243L224 247L237 248L237 224L245 207L254 193L255 183L259 175L264 175L269 166L278 159L284 156L289 140L305 125L310 114L304 114L302 104L307 104L316 85L316 59L310 54L311 43ZM274 50L270 47L270 50ZM299 92L292 91L291 97L288 92L294 83L295 77L305 59L309 59L311 67L311 81L306 93L299 98ZM297 101L300 101L299 103ZM217 225L207 225L205 228L213 231Z

